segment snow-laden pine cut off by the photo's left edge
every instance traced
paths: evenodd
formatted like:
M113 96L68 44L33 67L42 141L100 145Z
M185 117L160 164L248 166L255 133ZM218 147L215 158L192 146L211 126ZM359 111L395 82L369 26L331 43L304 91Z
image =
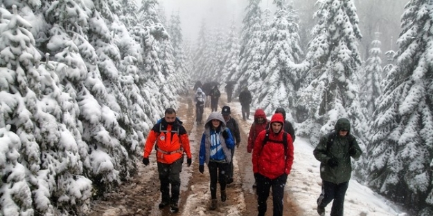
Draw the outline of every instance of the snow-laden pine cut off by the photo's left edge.
M40 56L28 31L30 23L19 16L17 6L11 9L12 14L0 8L0 214L33 215L30 186L37 186L40 160L33 136L37 108L28 106L37 103L39 72L34 66Z

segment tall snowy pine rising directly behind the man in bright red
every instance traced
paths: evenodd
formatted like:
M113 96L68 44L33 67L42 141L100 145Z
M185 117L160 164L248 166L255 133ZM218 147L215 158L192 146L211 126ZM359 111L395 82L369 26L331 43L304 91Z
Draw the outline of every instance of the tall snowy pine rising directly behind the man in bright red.
M274 0L276 13L269 30L266 31L263 64L260 67L263 88L260 88L256 104L273 113L278 107L288 110L288 117L292 121L291 112L295 104L297 90L297 73L292 70L294 63L299 63L302 55L299 47L299 26L297 14L284 0Z

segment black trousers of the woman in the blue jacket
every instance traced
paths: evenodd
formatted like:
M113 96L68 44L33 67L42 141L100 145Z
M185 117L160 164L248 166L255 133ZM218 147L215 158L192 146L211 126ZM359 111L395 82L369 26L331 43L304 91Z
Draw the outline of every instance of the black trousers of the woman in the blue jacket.
M211 198L216 199L217 181L220 182L221 191L226 189L229 164L209 161L208 168L211 175Z

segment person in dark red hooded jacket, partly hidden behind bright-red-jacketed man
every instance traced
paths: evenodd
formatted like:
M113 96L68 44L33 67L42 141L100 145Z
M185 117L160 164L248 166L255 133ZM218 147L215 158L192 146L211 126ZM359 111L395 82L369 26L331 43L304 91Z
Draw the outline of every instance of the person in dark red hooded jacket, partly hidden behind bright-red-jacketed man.
M251 153L254 148L254 143L256 142L256 138L262 130L266 130L266 126L269 124L269 120L266 119L265 111L262 109L257 109L254 113L254 122L249 128L248 134L248 144L247 144L247 152ZM254 181L253 188L256 188L257 181Z

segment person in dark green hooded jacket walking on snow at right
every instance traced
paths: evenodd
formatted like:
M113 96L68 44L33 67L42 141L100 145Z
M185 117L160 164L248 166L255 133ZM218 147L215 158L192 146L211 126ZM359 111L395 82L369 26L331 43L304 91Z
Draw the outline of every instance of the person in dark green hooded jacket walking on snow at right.
M317 213L325 215L325 207L334 200L330 215L343 216L344 197L351 179L353 159L359 159L362 150L351 135L348 119L338 119L335 130L321 137L313 154L320 161L321 195L317 199Z

